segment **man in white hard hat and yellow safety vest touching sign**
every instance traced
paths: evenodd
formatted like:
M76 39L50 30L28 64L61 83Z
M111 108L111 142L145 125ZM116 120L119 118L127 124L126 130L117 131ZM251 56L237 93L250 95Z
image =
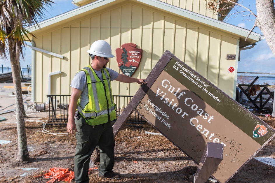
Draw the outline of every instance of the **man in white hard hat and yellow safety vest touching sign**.
M144 79L131 78L106 68L112 55L111 46L103 40L95 41L87 51L92 63L74 76L67 131L76 131L76 153L74 175L76 183L89 182L88 168L94 149L100 149L100 177L121 179L112 171L114 167L114 134L112 123L116 119L111 81L137 82L146 84Z

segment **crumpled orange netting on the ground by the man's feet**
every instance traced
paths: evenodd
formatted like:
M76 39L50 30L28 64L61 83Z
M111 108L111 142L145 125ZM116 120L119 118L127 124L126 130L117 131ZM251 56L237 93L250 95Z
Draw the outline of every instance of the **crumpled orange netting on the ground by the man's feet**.
M98 167L90 168L89 175L90 175L90 170L93 169L98 169ZM48 170L48 173L43 174L45 178L51 178L47 183L49 182L55 182L56 180L59 181L66 181L66 182L71 182L74 179L74 171L69 171L69 168L58 168L58 167L53 167ZM39 175L42 176L42 175Z

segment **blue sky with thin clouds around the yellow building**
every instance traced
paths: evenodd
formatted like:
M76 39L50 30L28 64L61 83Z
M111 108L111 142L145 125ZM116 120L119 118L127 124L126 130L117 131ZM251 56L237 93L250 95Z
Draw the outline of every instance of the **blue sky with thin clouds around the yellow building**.
M53 4L53 9L47 8L46 17L51 18L56 15L60 15L69 10L77 8L72 4L72 0L53 0L55 4ZM243 3L244 6L253 9L256 13L255 8L255 0L239 0L239 3ZM232 11L231 11L232 13ZM227 23L233 24L239 27L243 27L245 29L251 29L254 25L255 17L250 16L251 20L248 20L247 16L231 16ZM253 30L259 34L262 34L258 27L255 27ZM31 51L29 48L26 48L25 61L21 61L22 68L27 68L27 65L31 64ZM269 49L265 40L262 40L257 43L257 45L253 49L243 50L241 51L241 57L239 61L238 71L241 72L263 72L263 73L274 73L274 64L275 58ZM0 67L3 64L4 67L9 66L9 61L4 61L0 59Z

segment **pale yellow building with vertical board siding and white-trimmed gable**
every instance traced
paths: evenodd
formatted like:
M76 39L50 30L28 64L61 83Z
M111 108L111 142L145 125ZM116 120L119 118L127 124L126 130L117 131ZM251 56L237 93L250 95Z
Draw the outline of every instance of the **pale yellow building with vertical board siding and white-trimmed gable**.
M146 78L165 50L235 97L239 52L263 39L249 30L224 23L206 8L206 0L74 0L79 6L29 27L32 38L32 100L47 94L70 94L75 73L90 64L87 50L96 40L116 48L135 43L142 59L132 77ZM227 59L227 54L235 59ZM234 57L233 57L234 58ZM116 58L109 68L120 72ZM229 72L229 68L235 69ZM58 71L61 71L58 74ZM121 73L121 72L120 72ZM134 95L140 85L112 82L114 95Z

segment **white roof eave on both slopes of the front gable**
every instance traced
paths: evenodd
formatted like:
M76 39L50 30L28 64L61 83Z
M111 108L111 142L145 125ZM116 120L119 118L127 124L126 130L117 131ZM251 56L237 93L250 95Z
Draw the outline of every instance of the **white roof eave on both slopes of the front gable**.
M125 0L98 0L95 1L93 3L89 3L87 5L81 6L79 8L76 8L74 10L71 10L69 12L63 13L61 15L58 15L56 17L50 18L48 20L45 20L43 22L40 22L40 28L45 28L45 27L49 27L49 26L54 26L54 24L57 23L66 23L70 22L70 20L68 20L69 18L74 17L74 19L76 19L77 17L81 17L85 14L91 13L93 11L98 11L100 8L102 8L102 6L104 5L113 5L114 3L119 3ZM158 1L158 0L129 0L129 1L134 1L134 2L140 2L142 4L146 4L147 6L151 6L152 8L156 8L156 9L160 9L163 11L166 11L168 13L172 13L175 14L177 16L182 16L185 17L186 19L201 23L201 24L206 24L208 26L211 27L215 27L217 29L220 29L222 31L226 31L229 33L233 33L236 36L239 36L241 38L245 38L248 34L249 34L249 30L247 29L243 29L241 27L237 27L210 17L206 17L204 15L200 15L198 13L194 13L192 11L189 10L185 10L182 8L178 8L176 6L170 5L168 3L163 3L162 1ZM104 7L105 8L105 7ZM36 30L35 26L29 27L28 30L30 32L33 31L39 31ZM253 44L253 42L257 42L261 40L262 35L255 33L255 32L251 32L251 34L248 37L249 42L247 42L248 44Z

